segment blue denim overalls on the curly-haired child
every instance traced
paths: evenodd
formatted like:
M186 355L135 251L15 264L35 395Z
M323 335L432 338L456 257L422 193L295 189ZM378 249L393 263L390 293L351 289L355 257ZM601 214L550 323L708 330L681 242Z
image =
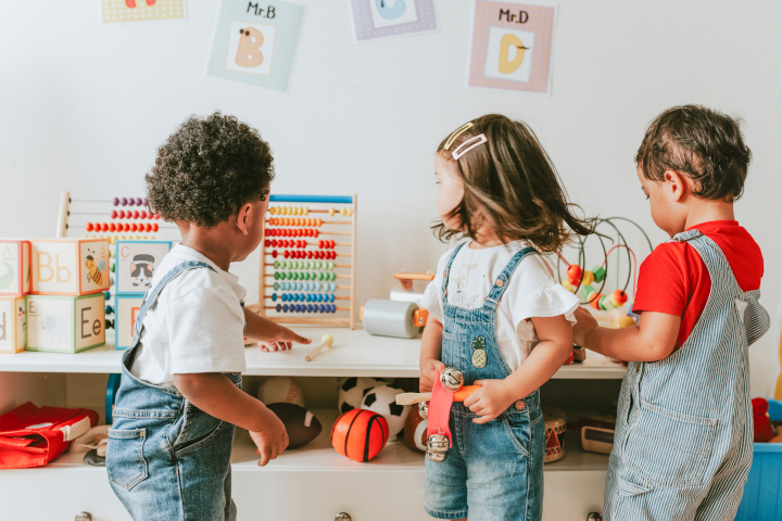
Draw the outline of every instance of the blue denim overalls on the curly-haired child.
M123 356L106 469L114 493L136 521L236 519L229 465L234 425L198 409L176 389L130 372L144 315L160 292L184 271L201 268L214 271L205 263L182 263L150 285ZM226 376L241 389L241 373Z

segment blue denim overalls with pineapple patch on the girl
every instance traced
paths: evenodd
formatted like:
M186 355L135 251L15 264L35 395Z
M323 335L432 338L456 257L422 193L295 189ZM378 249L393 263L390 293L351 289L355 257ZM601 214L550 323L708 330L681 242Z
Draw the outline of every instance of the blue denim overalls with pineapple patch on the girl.
M538 252L527 247L514 255L483 307L463 309L447 303L451 265L463 245L451 256L443 274L442 361L462 371L465 385L469 385L510 374L497 346L496 307L516 266ZM476 359L474 346L480 345L485 346L485 358ZM482 364L484 367L476 367ZM453 404L449 421L453 446L444 461L426 460L424 507L430 516L471 521L541 519L545 422L539 393L535 390L483 424L472 422L478 416L464 404Z

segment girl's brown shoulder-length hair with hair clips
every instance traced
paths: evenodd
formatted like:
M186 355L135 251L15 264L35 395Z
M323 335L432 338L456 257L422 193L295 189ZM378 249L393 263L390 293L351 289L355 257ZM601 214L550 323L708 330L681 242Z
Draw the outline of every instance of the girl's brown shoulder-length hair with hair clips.
M439 221L434 236L445 242L454 236L477 239L477 228L488 225L507 243L526 240L542 252L556 252L576 234L594 232L591 219L576 217L554 164L524 122L501 114L488 114L471 122L474 126L459 135L445 150L450 136L437 153L446 160L464 182L464 198L449 217L458 219L458 229ZM454 160L459 144L480 135L488 142ZM476 223L482 209L484 223Z

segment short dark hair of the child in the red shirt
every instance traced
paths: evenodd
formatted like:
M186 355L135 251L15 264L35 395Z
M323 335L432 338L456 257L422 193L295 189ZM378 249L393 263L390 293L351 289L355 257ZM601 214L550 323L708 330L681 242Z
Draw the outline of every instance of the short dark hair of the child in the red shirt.
M744 192L752 151L741 119L702 105L668 109L646 129L635 163L646 179L677 170L694 181L693 195L733 202Z

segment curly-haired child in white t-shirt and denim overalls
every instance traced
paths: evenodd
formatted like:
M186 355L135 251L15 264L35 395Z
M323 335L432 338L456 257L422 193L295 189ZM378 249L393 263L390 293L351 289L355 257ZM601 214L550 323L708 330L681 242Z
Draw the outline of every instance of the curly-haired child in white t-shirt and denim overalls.
M310 340L245 310L228 272L263 238L273 178L257 130L219 112L182 123L147 175L150 209L182 242L143 297L109 431L109 480L135 520L234 520L234 425L250 431L261 466L288 445L279 418L241 390L242 339Z

